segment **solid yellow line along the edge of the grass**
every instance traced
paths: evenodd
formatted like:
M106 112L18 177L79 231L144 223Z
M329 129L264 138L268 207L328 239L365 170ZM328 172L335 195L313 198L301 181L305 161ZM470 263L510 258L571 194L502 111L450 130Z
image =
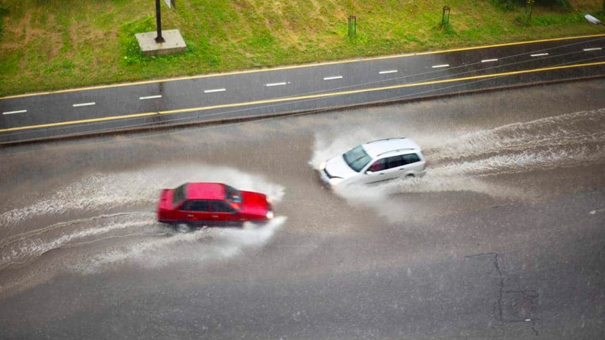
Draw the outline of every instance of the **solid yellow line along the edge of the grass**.
M264 69L264 70L245 70L245 71L226 72L226 73L220 73L220 74L200 74L200 75L197 75L197 76L181 76L181 77L177 77L177 78L156 79L156 80L149 80L149 81L136 81L134 83L118 83L118 84L111 84L111 85L89 86L89 87L85 87L85 88L70 88L70 89L66 89L66 90L56 90L56 91L47 91L47 92L35 92L35 93L26 93L26 94L23 94L23 95L12 95L12 96L0 97L0 100L2 100L2 99L21 98L21 97L32 97L32 96L38 96L38 95L51 95L51 94L66 93L66 92L76 92L76 91L86 91L86 90L99 90L99 89L102 89L102 88L119 88L119 87L122 87L122 86L136 86L136 85L145 85L145 84L152 84L152 83L162 83L162 82L168 82L168 81L183 81L183 80L202 79L202 78L209 78L209 77L232 76L232 75L237 75L237 74L248 74L248 73L257 73L257 72L273 72L273 71L281 71L281 70L292 70L292 69L297 69L297 68L302 68L302 67L316 67L316 66L335 65L335 64L342 64L342 63L357 63L357 62L365 62L365 61L372 61L372 60L382 60L382 59L392 59L392 58L404 58L404 57L409 57L409 56L424 56L424 55L427 55L427 54L442 54L442 53L458 52L458 51L471 51L471 50L474 50L474 49L489 49L489 48L493 48L493 47L514 46L514 45L520 45L520 44L533 44L533 43L537 43L537 42L552 42L552 41L561 41L561 40L573 40L573 39L583 39L583 38L599 38L599 37L605 37L605 34L579 35L579 36L576 36L576 37L551 38L551 39L541 39L541 40L529 40L529 41L522 41L522 42L506 42L506 43L503 43L503 44L491 44L491 45L475 46L475 47L460 47L458 49L444 49L444 50L441 50L441 51L426 51L426 52L418 52L418 53L394 54L392 56L378 56L378 57L372 57L372 58L358 58L358 59L348 59L348 60L337 60L337 61L330 61L330 62L327 62L327 63L314 63L314 64L304 64L304 65L290 65L290 66L274 67L274 68Z

